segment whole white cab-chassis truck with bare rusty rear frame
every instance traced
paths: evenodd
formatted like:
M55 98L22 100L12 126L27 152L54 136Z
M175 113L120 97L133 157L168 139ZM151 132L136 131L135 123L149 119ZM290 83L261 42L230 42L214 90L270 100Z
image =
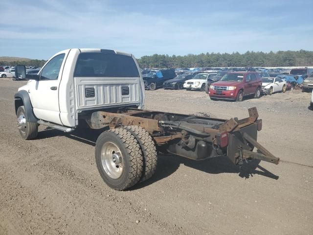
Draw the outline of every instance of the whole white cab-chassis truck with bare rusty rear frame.
M103 130L95 161L103 180L116 190L149 179L157 151L193 160L228 156L234 164L251 159L278 164L257 141L262 129L256 108L238 120L144 110L144 83L132 54L107 49L67 49L38 74L17 65L29 79L15 94L17 125L24 140L38 125L72 132L81 124ZM252 152L257 147L262 153Z

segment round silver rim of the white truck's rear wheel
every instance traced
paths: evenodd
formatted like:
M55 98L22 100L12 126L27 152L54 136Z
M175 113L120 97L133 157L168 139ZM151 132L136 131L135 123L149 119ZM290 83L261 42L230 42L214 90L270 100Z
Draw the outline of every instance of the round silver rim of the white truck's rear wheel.
M101 149L101 163L104 171L112 179L118 179L123 173L123 156L115 143L106 142Z

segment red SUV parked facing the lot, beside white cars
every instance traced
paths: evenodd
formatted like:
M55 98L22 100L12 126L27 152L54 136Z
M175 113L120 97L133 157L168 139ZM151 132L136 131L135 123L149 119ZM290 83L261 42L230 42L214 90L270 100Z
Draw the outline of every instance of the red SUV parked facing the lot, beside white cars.
M226 99L243 101L244 96L260 98L262 80L258 72L229 72L220 81L212 83L209 95L212 100Z

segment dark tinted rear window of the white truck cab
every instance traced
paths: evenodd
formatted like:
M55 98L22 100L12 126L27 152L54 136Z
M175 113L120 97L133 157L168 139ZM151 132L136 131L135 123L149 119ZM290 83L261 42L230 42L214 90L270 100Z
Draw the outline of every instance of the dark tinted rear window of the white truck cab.
M139 77L131 56L115 53L80 53L74 71L75 77Z

